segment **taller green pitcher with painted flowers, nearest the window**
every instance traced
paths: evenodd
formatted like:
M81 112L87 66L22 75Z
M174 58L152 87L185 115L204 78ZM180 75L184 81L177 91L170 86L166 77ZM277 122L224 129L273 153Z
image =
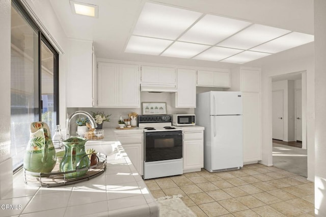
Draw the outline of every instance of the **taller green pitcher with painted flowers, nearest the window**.
M35 173L50 173L56 166L56 150L45 122L31 123L23 166L25 170Z

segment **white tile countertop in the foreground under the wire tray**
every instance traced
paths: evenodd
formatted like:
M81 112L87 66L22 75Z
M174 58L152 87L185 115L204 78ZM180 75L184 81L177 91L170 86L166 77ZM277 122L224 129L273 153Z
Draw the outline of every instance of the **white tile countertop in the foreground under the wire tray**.
M14 175L13 191L0 200L1 216L158 216L159 208L144 180L131 164L115 128L104 129L104 139L86 148L107 155L104 174L66 186L25 184L23 172ZM137 127L124 131L137 130ZM123 131L123 130L121 130ZM4 208L11 205L11 208Z

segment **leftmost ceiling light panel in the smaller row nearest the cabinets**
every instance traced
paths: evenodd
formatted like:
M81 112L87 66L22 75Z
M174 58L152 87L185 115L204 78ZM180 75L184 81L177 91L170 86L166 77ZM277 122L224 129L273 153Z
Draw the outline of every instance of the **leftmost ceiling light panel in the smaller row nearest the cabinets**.
M170 40L131 36L125 52L142 53L146 55L159 55L172 42L173 41Z

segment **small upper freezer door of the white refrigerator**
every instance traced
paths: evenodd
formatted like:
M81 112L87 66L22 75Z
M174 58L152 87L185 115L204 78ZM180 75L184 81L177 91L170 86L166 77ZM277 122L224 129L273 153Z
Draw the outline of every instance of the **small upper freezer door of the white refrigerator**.
M210 115L241 115L241 92L212 91L210 92Z

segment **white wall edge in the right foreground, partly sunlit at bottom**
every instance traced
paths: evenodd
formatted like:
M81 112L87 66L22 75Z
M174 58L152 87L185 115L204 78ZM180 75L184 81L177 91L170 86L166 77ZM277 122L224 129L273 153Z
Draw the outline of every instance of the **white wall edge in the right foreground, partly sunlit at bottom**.
M315 215L326 216L326 1L315 0L314 9L316 92Z

